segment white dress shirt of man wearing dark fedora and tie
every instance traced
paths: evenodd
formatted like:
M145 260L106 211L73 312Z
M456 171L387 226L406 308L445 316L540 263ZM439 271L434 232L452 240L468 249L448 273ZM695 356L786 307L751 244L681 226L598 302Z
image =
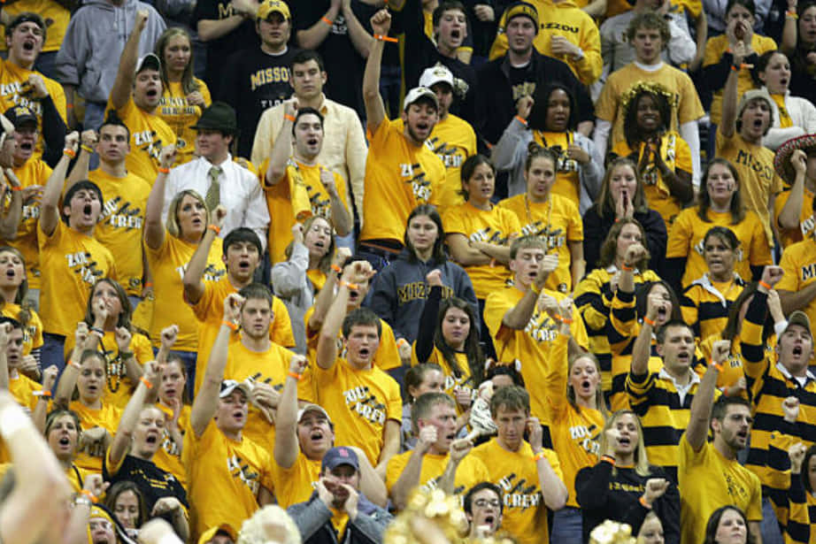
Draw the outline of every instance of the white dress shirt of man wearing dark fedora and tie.
M162 210L162 223L167 221L167 211L175 195L187 189L193 189L202 198L210 187L210 169L212 163L204 157L181 166L177 166L167 175L165 185L165 207ZM251 228L258 234L261 246L266 248L266 228L269 226L269 210L266 199L255 174L233 162L232 156L219 166L219 200L227 208L227 218L221 227L221 238L239 226Z

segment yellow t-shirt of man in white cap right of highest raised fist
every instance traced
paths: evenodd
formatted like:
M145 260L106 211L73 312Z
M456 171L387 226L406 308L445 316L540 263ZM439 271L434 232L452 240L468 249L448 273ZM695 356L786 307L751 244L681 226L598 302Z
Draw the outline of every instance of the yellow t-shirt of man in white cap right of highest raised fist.
M400 131L403 130L402 119L397 119L394 123ZM476 133L465 119L449 113L448 117L436 123L425 145L445 165L445 181L439 187L438 197L435 197L436 208L440 214L444 214L449 208L465 202L462 195L459 195L462 190L461 171L467 157L476 154Z

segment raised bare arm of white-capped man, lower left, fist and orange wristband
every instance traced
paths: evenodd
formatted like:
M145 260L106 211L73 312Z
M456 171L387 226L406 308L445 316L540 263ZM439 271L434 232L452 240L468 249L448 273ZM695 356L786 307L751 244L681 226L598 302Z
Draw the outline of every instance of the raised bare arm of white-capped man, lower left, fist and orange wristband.
M201 389L190 410L190 427L196 436L204 434L207 425L210 425L215 415L215 410L218 409L221 380L224 379L224 367L227 366L229 335L233 332L233 327L238 324L242 304L243 297L237 293L231 293L224 299L224 319L221 322L218 336L215 337L215 343L212 344L210 360L207 361L207 370L204 372Z

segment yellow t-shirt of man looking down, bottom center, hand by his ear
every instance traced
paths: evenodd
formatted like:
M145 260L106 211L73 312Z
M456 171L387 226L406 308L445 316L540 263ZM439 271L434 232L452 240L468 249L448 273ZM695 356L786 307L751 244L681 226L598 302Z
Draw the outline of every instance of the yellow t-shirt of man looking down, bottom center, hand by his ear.
M561 481L564 474L558 456L544 448L544 455ZM504 491L502 529L520 544L541 544L550 541L547 506L538 483L538 468L533 461L533 448L522 442L519 451L508 451L493 439L468 454L488 467L490 481Z

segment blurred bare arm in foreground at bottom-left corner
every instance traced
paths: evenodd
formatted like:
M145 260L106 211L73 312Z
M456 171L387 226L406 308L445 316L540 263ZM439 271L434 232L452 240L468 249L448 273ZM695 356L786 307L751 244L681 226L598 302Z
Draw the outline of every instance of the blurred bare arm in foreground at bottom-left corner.
M15 485L0 503L0 540L33 544L64 515L71 486L42 434L14 397L0 390L0 435L12 457Z

